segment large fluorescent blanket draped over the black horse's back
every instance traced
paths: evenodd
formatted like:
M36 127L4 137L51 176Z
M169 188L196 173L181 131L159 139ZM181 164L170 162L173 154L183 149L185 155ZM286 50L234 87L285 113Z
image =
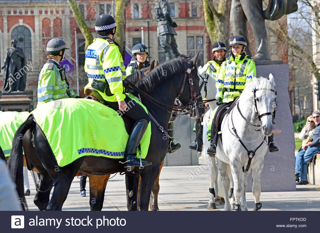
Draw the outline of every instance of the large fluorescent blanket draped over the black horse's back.
M129 94L132 104L140 104ZM30 114L42 129L60 167L85 156L124 158L129 138L118 113L90 99L63 99L37 107ZM151 125L141 140L141 158L147 156ZM139 153L137 157L140 158Z

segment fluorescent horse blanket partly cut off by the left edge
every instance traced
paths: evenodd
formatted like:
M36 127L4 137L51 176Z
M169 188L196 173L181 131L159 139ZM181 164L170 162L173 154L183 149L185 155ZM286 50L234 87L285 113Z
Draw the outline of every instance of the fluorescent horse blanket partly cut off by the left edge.
M5 157L10 156L14 134L29 115L29 112L0 112L0 146Z

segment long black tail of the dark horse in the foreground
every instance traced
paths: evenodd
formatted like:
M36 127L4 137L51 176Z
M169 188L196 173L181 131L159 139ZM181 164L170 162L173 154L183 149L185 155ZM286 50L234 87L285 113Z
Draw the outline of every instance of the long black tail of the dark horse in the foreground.
M8 168L10 176L13 182L17 186L19 203L22 205L23 210L28 210L26 198L24 196L23 186L23 154L22 154L22 138L28 129L35 126L33 117L30 117L27 121L17 130L12 141L12 149L8 161Z

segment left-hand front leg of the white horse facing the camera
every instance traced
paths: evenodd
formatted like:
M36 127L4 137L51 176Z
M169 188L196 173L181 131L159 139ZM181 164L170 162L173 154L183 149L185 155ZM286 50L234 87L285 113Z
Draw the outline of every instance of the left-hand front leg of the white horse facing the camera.
M236 159L230 159L230 168L232 173L232 178L235 183L233 194L235 195L235 210L239 211L240 209L240 198L242 195L242 187L241 187L241 165L240 162L236 161Z

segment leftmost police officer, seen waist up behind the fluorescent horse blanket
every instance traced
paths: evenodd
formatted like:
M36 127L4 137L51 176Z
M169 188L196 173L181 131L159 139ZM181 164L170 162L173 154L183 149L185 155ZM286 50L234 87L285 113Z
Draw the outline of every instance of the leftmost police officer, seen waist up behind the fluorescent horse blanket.
M44 64L38 79L38 105L65 98L80 98L70 87L65 69L59 64L68 49L60 38L51 39L46 47L47 62Z

